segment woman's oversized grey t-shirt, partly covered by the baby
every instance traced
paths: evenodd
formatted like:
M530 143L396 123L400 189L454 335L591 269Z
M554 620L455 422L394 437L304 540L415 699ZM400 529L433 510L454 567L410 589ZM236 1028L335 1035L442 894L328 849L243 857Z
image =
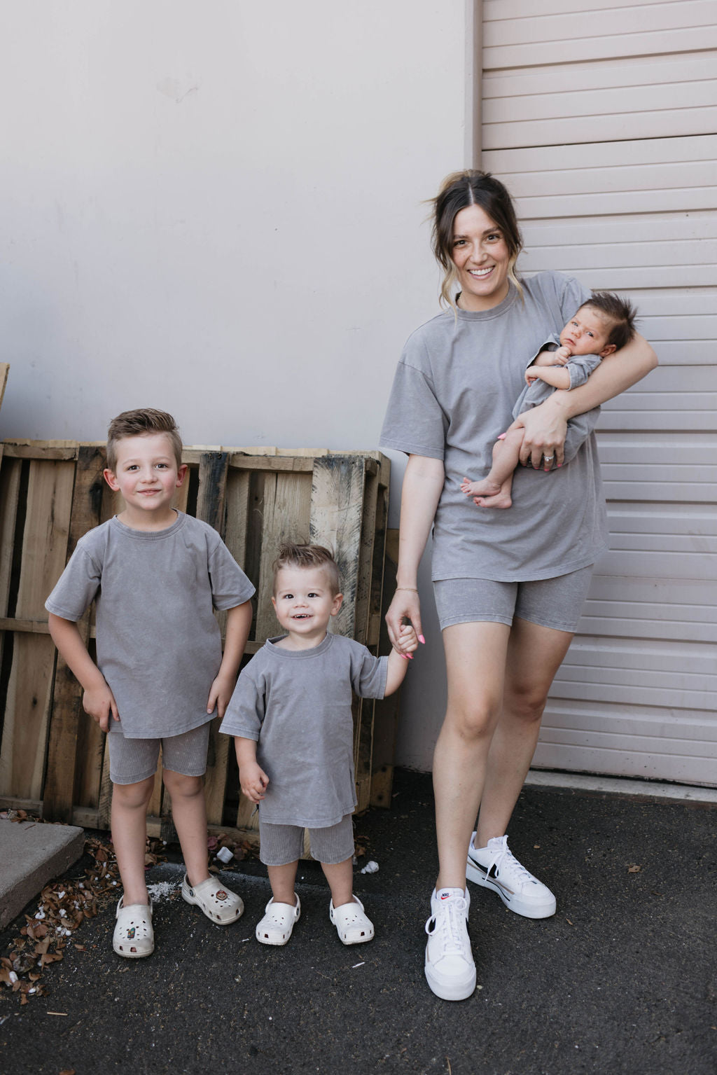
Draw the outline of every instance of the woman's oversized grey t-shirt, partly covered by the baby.
M440 314L408 338L391 389L381 444L442 459L445 483L433 524L432 574L502 582L553 578L593 563L606 522L594 436L568 465L518 467L513 506L477 507L460 489L490 470L491 450L513 421L528 360L590 297L578 281L545 272L511 284L492 310ZM567 458L571 458L570 430Z

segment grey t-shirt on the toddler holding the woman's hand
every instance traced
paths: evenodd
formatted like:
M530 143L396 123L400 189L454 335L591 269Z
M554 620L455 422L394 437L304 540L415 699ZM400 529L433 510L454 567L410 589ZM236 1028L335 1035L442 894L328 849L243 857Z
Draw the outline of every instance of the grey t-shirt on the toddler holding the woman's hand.
M268 639L242 670L219 731L258 741L269 777L263 822L322 829L356 806L352 689L383 698L388 658L340 634L312 649L278 641Z

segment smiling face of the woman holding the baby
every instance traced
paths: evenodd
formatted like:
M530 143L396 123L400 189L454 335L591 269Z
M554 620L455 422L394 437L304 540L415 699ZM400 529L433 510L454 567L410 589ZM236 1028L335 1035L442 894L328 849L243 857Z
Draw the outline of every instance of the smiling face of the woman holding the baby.
M507 296L507 243L479 205L456 214L450 256L458 270L461 310L491 310Z

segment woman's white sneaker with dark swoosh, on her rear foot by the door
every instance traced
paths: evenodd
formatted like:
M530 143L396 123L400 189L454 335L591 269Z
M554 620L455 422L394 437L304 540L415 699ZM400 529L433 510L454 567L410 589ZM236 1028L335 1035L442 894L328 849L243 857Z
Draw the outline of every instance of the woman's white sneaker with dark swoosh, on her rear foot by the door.
M498 892L506 907L525 918L555 915L555 895L533 877L508 850L507 836L493 836L487 847L476 850L475 833L468 849L465 876L476 885Z

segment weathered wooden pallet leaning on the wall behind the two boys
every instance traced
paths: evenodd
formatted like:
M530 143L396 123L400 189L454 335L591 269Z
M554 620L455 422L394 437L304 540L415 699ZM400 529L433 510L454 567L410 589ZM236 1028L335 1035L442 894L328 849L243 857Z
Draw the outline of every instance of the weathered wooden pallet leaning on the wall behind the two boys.
M57 657L44 602L82 534L120 510L121 501L102 477L103 444L5 441L0 447L0 805L106 829L106 736L82 711L82 689ZM183 460L189 473L176 506L215 527L257 587L245 660L278 633L271 564L289 538L333 548L344 592L333 630L378 651L390 468L385 456L195 446L185 448ZM78 626L91 650L91 613ZM385 640L382 651L388 651ZM359 811L390 801L396 717L395 699L355 702ZM215 719L205 784L211 831L235 830L246 838L256 820L240 794L232 755ZM159 775L149 815L150 834L173 837Z

